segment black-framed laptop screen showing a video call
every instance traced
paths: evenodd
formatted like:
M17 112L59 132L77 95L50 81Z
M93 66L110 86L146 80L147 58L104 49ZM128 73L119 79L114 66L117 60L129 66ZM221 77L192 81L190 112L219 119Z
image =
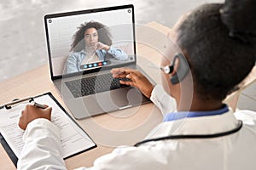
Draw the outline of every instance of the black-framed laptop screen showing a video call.
M136 62L133 5L47 14L44 24L52 78Z

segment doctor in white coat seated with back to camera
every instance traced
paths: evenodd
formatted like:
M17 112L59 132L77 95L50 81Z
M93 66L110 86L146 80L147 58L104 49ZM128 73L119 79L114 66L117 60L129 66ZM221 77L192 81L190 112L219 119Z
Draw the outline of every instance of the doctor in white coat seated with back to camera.
M122 83L139 88L160 108L164 121L136 146L117 148L94 167L80 169L255 169L256 113L234 113L223 103L255 63L255 8L254 0L226 0L184 16L174 29L183 53L170 56L172 64L162 62L166 90L138 71L113 69L113 77L130 78ZM66 169L50 111L32 105L22 111L25 147L18 169Z

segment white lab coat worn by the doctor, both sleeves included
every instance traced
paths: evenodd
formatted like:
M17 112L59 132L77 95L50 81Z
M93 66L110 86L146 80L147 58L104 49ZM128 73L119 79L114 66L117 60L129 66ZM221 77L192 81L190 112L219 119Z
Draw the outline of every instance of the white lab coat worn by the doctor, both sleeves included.
M174 111L175 100L157 85L151 97L162 112ZM230 131L243 121L237 133L214 139L167 139L139 147L124 146L94 162L94 167L79 169L256 169L256 113L230 110L218 116L199 116L162 122L148 134L148 139L170 134L211 134ZM58 130L49 121L38 119L26 128L25 147L18 169L66 169L61 159Z

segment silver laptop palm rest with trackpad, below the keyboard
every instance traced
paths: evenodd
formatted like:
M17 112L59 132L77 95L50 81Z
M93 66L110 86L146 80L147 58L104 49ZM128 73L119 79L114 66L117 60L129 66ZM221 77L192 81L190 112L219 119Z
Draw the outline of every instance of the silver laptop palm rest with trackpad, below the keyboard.
M80 99L66 101L76 119L96 116L111 111L119 111L133 105L148 103L147 99L137 88L120 88L108 92L94 94Z

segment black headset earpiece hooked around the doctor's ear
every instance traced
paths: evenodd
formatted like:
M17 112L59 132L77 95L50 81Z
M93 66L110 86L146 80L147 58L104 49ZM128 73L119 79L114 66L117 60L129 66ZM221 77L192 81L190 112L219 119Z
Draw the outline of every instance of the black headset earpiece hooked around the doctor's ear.
M172 71L177 58L179 59L179 62L178 62L179 65L177 66L176 74L170 78L170 81L172 82L172 84L177 84L178 82L181 82L189 72L189 64L187 59L183 56L183 54L176 54L174 56L173 62L172 62L173 64L171 65Z

